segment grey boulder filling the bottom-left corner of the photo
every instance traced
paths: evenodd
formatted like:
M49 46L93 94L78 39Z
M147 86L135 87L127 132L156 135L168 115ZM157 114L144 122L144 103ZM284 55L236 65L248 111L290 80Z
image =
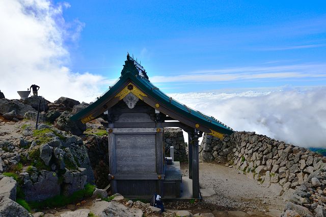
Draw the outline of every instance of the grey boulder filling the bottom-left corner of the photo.
M29 213L24 207L16 203L15 201L0 196L0 216L6 217L32 217L33 215Z

